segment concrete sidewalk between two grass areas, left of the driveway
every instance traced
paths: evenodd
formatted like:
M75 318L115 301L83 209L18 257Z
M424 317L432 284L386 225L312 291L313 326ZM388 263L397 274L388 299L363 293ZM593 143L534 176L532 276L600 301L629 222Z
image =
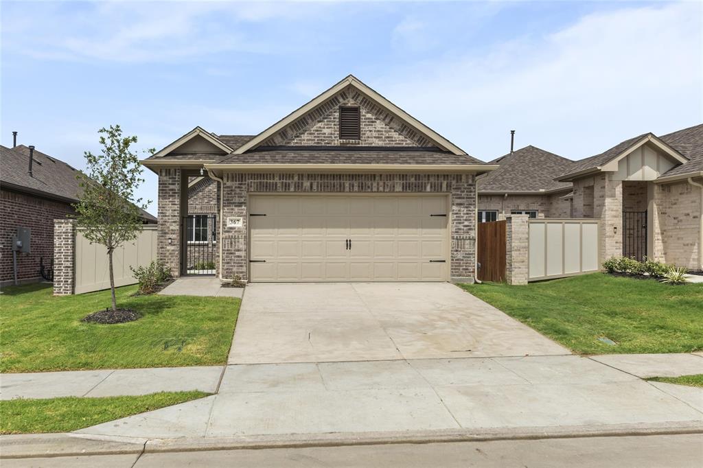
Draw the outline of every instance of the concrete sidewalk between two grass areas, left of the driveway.
M188 390L214 394L223 370L224 366L219 365L0 374L0 400L147 395L159 391Z

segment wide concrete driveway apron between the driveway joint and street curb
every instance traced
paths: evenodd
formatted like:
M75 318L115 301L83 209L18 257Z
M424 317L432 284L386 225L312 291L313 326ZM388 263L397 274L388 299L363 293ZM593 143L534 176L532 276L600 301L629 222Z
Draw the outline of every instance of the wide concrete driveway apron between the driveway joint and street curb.
M703 389L673 387L579 356L228 365L217 395L77 433L179 438L703 424Z

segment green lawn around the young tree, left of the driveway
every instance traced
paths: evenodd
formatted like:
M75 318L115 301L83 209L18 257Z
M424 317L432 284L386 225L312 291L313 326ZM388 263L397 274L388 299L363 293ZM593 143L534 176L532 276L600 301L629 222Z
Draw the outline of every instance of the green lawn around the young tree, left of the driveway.
M81 318L110 305L110 291L53 297L51 285L6 287L0 295L0 372L212 365L226 362L239 299L139 296L117 289L117 305L143 314L114 325Z

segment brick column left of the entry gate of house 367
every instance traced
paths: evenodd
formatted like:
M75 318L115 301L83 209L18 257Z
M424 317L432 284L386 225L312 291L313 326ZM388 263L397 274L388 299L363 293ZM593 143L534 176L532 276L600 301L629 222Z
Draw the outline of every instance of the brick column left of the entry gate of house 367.
M159 169L157 217L159 219L157 259L170 266L174 276L179 276L181 274L181 169Z

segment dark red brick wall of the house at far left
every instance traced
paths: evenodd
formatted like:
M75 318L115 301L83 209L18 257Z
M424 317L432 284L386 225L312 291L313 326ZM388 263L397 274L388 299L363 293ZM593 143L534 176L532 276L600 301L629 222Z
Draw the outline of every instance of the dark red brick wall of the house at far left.
M30 228L32 252L18 253L18 280L39 281L39 260L49 266L53 259L53 220L73 214L69 203L47 200L11 190L0 190L0 282L14 280L12 238L17 228Z

